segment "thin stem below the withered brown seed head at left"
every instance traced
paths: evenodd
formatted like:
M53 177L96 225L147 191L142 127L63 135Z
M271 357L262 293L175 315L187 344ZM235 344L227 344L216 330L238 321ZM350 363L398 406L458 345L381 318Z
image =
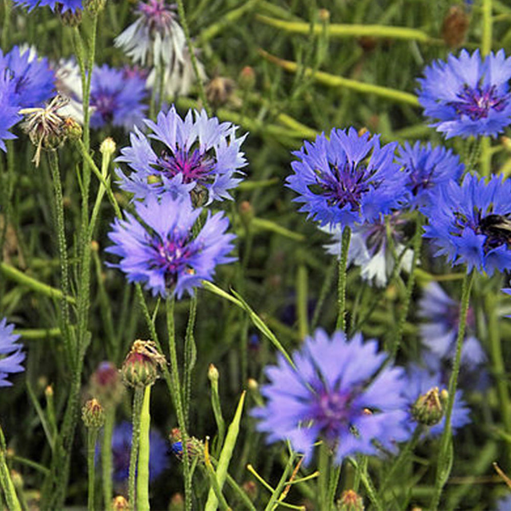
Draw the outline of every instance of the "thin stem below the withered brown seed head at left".
M60 308L62 312L63 324L63 339L64 349L66 354L66 361L68 364L74 365L73 355L76 351L73 338L70 335L71 321L69 319L69 306L66 300L66 295L69 290L69 265L67 262L67 247L65 241L65 226L64 226L64 202L62 196L62 183L60 180L59 161L57 151L48 152L48 160L50 162L50 169L52 172L53 189L55 193L55 210L56 210L56 230L57 240L59 245L60 255L60 272L61 272L61 290L62 296L60 298ZM73 367L71 365L71 367Z

